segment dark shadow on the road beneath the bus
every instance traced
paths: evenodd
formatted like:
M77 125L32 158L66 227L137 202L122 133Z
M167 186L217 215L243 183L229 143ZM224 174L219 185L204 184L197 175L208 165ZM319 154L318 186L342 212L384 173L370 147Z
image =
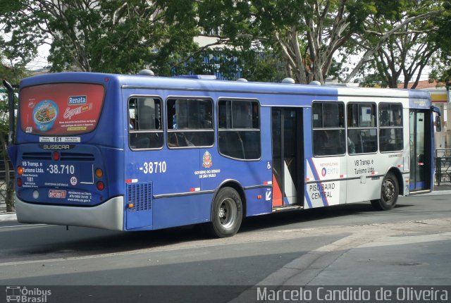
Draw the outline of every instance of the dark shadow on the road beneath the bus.
M397 208L409 205L398 205ZM368 221L377 220L379 214L387 212L373 211L371 205L350 204L331 206L321 209L288 211L245 218L240 233L252 233L259 230L290 228L312 228L315 225L328 225L328 218L350 217ZM357 215L357 216L356 216ZM326 220L326 221L324 221ZM332 222L332 221L331 221ZM299 225L301 223L301 225ZM305 223L305 224L304 224ZM336 221L334 223L336 225ZM165 230L115 232L94 228L39 225L13 228L0 233L0 261L23 261L58 259L93 254L114 254L140 249L168 247L180 242L205 240L206 235L199 233L194 226L170 228Z

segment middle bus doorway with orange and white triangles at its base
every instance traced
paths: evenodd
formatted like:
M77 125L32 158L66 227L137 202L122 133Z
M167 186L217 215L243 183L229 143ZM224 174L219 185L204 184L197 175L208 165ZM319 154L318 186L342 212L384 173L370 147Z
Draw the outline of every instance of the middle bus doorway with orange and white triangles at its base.
M273 108L273 209L302 206L302 109Z

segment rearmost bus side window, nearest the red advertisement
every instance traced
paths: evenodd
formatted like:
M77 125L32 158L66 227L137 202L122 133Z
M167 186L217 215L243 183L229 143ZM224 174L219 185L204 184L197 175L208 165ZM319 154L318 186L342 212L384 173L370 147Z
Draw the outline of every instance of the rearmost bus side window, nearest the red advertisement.
M161 99L139 97L128 100L128 140L131 149L163 147Z

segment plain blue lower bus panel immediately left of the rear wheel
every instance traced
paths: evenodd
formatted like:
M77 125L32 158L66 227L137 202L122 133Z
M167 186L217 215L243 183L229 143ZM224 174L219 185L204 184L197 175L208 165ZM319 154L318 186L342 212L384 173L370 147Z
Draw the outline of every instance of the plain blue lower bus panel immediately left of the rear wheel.
M154 199L154 229L210 221L213 197L211 193Z

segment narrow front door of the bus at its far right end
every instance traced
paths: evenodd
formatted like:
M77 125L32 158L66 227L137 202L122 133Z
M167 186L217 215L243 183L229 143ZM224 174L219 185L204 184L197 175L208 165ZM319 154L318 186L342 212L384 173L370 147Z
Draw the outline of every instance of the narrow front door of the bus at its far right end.
M410 123L410 191L431 190L431 112L411 109Z

